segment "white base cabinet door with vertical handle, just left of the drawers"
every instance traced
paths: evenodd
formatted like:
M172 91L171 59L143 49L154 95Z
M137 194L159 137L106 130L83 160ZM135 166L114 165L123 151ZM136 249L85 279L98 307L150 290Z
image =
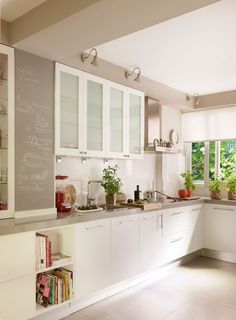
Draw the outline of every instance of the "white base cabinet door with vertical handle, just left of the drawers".
M139 271L154 269L162 262L162 214L140 214Z

